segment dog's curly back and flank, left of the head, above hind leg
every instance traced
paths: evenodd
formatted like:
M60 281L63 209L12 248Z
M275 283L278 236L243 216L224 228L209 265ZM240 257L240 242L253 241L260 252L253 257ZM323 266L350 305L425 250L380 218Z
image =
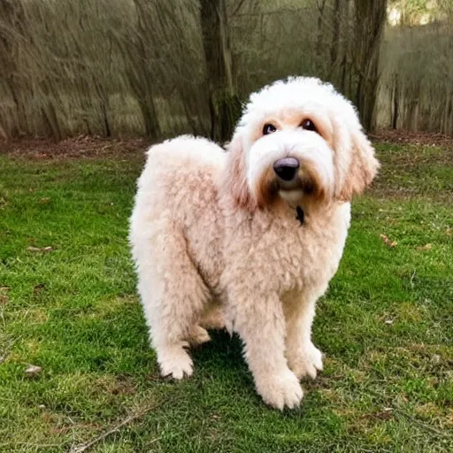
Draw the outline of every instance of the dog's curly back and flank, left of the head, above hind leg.
M162 259L171 242L180 242L179 253L188 253L204 278L217 284L218 187L225 164L225 151L203 138L184 135L150 148L130 220L137 264Z

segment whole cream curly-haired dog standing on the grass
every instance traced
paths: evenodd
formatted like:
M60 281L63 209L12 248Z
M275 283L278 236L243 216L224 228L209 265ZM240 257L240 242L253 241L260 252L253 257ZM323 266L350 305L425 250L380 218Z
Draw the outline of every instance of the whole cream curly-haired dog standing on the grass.
M162 374L192 374L188 346L225 321L265 403L298 406L323 367L311 323L349 200L378 166L352 104L303 77L250 96L227 152L187 135L151 147L130 242Z

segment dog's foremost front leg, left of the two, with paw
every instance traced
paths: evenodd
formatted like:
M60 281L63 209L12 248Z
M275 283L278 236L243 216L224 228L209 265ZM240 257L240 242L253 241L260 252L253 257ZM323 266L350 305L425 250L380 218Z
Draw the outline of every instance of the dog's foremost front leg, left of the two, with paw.
M244 357L257 393L277 409L295 408L302 400L303 390L285 357L286 327L280 298L269 294L253 299L244 297L248 292L236 292L234 306L230 308L234 331L244 342Z

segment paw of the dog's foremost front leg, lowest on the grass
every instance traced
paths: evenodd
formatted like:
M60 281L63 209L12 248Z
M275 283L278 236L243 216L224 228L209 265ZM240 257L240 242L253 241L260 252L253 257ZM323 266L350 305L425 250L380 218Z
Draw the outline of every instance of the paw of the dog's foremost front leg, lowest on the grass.
M295 409L301 403L303 390L296 375L288 372L269 374L257 381L257 392L263 401L282 411Z

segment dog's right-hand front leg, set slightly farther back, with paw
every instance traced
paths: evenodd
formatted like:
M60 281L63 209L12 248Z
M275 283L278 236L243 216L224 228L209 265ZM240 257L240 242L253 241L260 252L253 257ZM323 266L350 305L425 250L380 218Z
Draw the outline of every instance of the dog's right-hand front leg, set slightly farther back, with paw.
M286 305L287 348L289 368L297 378L315 379L322 371L322 353L311 342L311 325L315 316L316 298L290 301Z

